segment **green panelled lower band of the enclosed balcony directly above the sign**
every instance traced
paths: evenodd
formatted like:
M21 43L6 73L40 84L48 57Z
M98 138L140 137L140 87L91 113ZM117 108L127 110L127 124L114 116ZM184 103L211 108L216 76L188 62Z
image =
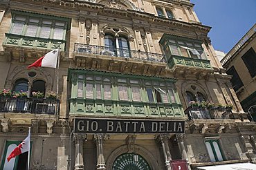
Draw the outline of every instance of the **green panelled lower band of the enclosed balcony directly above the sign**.
M70 99L70 115L108 115L129 117L183 117L181 104Z

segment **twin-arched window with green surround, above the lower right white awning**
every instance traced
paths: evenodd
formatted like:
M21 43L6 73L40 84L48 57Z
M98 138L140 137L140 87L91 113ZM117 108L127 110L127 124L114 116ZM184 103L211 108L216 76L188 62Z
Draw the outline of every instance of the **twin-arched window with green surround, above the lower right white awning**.
M205 145L211 162L223 161L223 155L219 147L219 140L206 140Z

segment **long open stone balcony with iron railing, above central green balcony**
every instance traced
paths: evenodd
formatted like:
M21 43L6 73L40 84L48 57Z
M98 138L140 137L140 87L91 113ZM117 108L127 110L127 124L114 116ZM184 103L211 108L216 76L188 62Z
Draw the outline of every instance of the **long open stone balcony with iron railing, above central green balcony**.
M143 75L161 75L167 66L162 54L89 44L75 43L73 57L78 68L101 68Z

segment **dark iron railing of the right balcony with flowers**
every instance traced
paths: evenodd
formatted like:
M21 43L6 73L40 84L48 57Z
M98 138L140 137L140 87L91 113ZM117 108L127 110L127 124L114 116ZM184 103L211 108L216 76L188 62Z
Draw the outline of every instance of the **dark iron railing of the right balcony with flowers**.
M193 119L235 119L230 108L192 108L185 109L189 120Z

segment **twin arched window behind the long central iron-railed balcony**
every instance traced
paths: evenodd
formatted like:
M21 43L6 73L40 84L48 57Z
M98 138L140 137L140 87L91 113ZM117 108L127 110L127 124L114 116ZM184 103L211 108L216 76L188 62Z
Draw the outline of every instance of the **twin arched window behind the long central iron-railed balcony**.
M129 57L129 43L125 37L115 38L112 35L104 37L105 51L103 55L112 55L118 57Z

